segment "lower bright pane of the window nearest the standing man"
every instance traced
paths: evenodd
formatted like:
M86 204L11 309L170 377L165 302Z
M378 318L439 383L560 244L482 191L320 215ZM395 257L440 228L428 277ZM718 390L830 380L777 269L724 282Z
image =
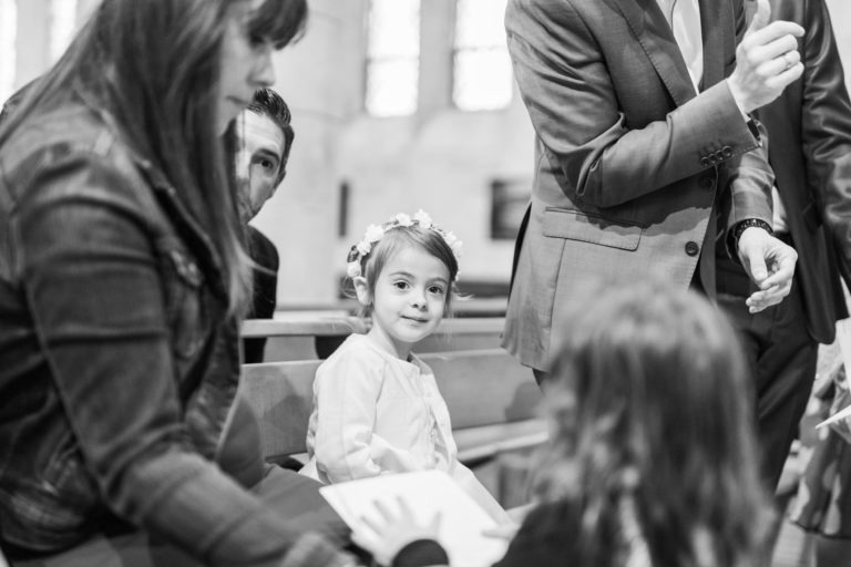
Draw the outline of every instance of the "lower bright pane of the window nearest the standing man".
M455 53L452 99L462 111L504 109L511 103L511 61L505 50Z

